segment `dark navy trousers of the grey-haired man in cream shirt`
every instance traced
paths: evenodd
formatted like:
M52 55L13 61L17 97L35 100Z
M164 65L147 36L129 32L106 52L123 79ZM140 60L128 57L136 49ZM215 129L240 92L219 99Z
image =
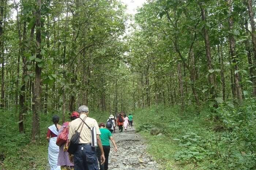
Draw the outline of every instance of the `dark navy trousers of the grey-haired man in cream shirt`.
M79 145L74 153L75 170L99 170L95 148L91 145Z

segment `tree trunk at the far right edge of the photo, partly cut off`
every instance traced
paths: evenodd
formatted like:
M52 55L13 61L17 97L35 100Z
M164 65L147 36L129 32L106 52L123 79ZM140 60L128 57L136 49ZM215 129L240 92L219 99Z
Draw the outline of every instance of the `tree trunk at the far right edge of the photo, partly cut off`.
M252 29L252 49L253 49L253 53L254 53L254 57L253 57L254 67L253 67L253 70L254 70L254 72L256 72L256 67L255 67L255 63L256 63L256 30L255 30L255 14L253 12L252 0L248 0L248 12L249 12L249 17L250 17L250 21L251 21L251 29ZM252 95L254 97L256 97L256 77L255 76L252 76L252 82L253 82Z

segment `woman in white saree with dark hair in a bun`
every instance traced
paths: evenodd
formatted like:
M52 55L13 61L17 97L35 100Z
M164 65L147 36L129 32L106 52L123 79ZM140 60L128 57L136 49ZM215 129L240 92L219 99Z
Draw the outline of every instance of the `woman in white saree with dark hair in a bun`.
M59 116L54 115L52 117L53 125L48 127L48 132L46 135L46 139L49 142L48 147L48 160L49 160L49 166L50 170L60 170L60 166L57 166L58 163L58 155L59 155L59 146L56 145L56 139L57 135L59 133L59 129L61 126L59 123Z

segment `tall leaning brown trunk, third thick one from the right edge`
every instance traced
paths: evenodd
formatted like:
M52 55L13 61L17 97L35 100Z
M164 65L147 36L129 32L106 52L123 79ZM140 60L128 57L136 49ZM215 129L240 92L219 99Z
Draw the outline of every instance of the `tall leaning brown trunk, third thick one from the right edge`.
M205 9L202 8L201 4L199 4L199 5L201 8L202 20L206 23L207 20L206 20ZM206 28L206 26L203 27L203 35L204 35L204 44L205 44L205 50L206 50L207 68L208 68L208 70L213 70L213 66L212 66L212 62L211 62L211 45L210 45L208 29ZM216 90L215 90L216 87L215 87L214 72L209 73L208 79L209 79L209 85L210 85L209 87L210 87L211 99L215 99L217 94L216 94Z

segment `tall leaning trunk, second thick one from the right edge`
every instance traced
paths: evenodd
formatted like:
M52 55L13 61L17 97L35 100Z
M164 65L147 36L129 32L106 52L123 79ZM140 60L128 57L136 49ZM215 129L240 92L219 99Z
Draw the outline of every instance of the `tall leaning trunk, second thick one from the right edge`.
M227 0L227 3L229 4L229 12L232 12L232 0ZM229 30L232 31L233 29L233 16L230 16L228 19L229 22ZM238 101L241 103L242 102L242 89L239 83L239 67L237 64L237 54L236 54L236 40L235 37L232 33L229 34L229 45L230 45L230 54L231 54L231 59L232 59L232 63L234 65L234 84L236 87L236 95L237 95L237 99Z

